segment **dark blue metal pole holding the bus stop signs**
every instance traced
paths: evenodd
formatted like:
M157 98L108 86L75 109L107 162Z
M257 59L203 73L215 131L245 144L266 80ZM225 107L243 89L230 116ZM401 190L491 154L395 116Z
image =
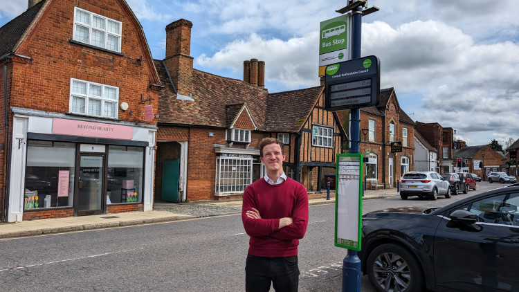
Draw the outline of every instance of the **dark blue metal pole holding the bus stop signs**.
M353 14L352 32L352 59L361 57L361 32L362 32L362 7L357 7ZM358 153L361 109L352 109L351 140L352 147L349 153ZM358 258L356 250L348 250L348 255L343 260L343 292L361 291L361 259Z

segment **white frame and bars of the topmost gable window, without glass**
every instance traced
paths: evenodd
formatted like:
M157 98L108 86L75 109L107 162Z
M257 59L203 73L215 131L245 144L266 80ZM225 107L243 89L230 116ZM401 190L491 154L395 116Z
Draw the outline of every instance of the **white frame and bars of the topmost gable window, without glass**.
M83 12L83 13L86 13L86 14L89 15L89 24L85 24L84 22L80 21L80 19L78 17L78 12ZM98 28L98 27L93 26L93 18L94 17L98 17L100 19L104 19L104 28ZM112 22L113 24L117 24L118 25L118 31L117 32L109 31L108 25L109 25L110 22ZM78 27L86 28L86 29L89 30L88 42L83 42L82 39L80 39L80 37L77 35ZM93 41L93 37L92 37L93 36L92 30L100 32L100 33L102 33L104 35L104 44L102 44L102 46L98 46L98 45L93 44L94 41ZM116 50L108 48L109 37L117 37L117 39L118 39L117 42L118 43L117 43L117 49ZM75 40L76 42L82 42L84 44L89 44L90 46L95 46L95 47L98 47L98 48L102 48L104 50L114 51L114 52L120 53L120 51L121 51L121 39L122 39L122 22L116 21L115 19L111 19L111 18L108 18L108 17L104 17L102 15L95 14L93 12L90 12L88 10L84 10L82 8L79 8L79 7L75 7L74 8L74 28L73 28L72 39Z

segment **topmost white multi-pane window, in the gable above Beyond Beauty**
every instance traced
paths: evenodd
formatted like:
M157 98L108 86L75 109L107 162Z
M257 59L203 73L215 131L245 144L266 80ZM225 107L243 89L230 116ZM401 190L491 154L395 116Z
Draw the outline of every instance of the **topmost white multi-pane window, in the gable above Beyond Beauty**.
M120 52L121 28L120 21L75 8L73 31L75 41Z

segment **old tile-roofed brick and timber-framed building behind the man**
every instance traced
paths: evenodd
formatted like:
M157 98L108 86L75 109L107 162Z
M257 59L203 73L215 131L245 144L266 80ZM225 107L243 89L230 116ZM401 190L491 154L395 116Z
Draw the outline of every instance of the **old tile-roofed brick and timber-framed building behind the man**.
M244 80L193 69L191 28L185 19L167 25L165 60L154 61L165 86L155 200L239 198L264 176L257 145L266 136L285 143L287 176L320 190L345 140L337 116L323 107L324 87L268 93L266 64L256 59L244 62Z

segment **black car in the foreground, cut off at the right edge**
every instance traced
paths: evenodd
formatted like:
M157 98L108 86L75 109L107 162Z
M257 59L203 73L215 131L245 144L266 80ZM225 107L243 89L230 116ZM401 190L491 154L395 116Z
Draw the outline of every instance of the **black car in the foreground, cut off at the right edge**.
M519 186L443 208L363 216L363 273L376 291L519 291Z

